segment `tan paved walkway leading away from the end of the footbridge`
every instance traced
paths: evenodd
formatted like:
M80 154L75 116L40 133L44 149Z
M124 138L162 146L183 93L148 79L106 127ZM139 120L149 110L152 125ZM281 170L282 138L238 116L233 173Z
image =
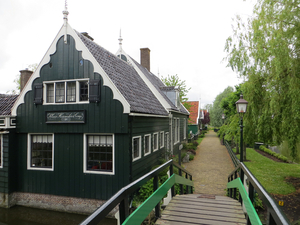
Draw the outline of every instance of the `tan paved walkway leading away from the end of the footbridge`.
M192 173L195 193L225 195L227 177L234 165L217 133L210 130L198 146L194 160L183 166Z

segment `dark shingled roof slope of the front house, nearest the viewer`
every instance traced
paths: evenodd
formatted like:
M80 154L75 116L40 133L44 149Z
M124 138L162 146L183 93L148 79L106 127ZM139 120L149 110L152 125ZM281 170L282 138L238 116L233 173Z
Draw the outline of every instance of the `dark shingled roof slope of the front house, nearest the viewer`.
M137 113L168 115L133 66L78 33L78 36L97 62L130 104L130 111Z

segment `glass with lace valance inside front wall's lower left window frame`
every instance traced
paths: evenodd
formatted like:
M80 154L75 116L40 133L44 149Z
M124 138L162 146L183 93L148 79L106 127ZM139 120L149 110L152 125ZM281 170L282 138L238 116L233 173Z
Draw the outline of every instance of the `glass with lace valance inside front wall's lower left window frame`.
M31 166L52 168L52 135L31 136Z

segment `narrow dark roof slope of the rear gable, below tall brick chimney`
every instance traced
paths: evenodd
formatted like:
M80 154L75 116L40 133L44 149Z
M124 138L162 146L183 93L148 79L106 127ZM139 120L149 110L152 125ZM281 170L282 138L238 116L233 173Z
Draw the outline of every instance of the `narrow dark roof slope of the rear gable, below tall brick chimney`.
M133 58L131 60L139 67L139 69L142 71L142 73L148 78L148 80L154 85L156 90L164 97L164 99L169 103L171 106L171 109L174 111L179 111L181 113L189 114L189 112L180 105L180 110L177 109L177 107L171 102L171 100L162 92L161 89L169 89L173 90L174 87L167 87L157 76L155 76L153 73L149 72L145 67L143 67L141 64L136 62Z

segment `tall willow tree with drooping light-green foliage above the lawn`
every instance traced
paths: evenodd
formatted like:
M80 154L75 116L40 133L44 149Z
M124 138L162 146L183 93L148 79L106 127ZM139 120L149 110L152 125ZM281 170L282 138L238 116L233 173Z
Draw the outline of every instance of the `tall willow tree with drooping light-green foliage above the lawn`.
M287 140L293 158L300 134L299 28L300 0L258 0L246 22L237 16L225 45L228 66L247 80L246 139Z

